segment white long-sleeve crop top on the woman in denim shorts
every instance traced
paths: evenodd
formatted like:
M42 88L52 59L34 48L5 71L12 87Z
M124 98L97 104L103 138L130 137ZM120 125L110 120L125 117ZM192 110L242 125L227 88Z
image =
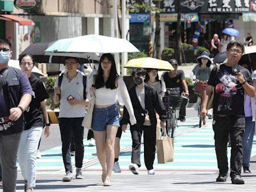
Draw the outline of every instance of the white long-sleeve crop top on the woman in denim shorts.
M90 96L89 88L91 87L92 80L90 80L90 86L86 87L87 98L90 100L92 97ZM130 116L130 123L131 125L136 124L136 118L134 116L134 111L132 108L132 104L130 101L129 93L127 91L126 85L121 77L118 76L118 87L115 89L110 89L101 87L95 90L95 104L99 105L107 105L107 104L114 104L118 99L119 103L124 103L125 107Z

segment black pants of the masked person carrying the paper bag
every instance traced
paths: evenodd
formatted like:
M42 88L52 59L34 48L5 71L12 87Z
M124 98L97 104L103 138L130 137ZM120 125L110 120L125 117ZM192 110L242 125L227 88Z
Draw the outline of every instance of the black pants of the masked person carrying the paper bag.
M141 135L143 131L143 140L144 140L144 162L147 170L153 169L154 155L155 155L155 131L156 125L154 126L137 126L131 125L130 132L132 138L132 154L131 162L139 166L140 164L140 144L141 144Z

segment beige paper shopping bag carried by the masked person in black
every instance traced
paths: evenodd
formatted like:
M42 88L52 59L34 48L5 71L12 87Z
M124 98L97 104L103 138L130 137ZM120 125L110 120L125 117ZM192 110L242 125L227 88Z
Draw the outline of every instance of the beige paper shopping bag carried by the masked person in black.
M156 152L158 163L173 161L173 142L174 138L170 138L166 133L166 129L163 128L161 132L161 137L159 139L156 139Z

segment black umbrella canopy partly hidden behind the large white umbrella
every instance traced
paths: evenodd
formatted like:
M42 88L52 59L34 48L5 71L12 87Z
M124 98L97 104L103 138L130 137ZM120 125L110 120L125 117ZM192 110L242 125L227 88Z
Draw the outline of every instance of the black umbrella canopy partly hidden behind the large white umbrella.
M34 57L35 62L39 63L48 63L49 62L49 55L44 55L44 50L53 44L55 41L52 42L42 42L42 43L33 43L26 47L19 55L23 54L31 54ZM70 55L55 55L51 58L51 63L65 63L65 56ZM78 58L79 63L89 63L89 62L98 62L99 58L95 53L83 53L80 55L71 55L73 57Z

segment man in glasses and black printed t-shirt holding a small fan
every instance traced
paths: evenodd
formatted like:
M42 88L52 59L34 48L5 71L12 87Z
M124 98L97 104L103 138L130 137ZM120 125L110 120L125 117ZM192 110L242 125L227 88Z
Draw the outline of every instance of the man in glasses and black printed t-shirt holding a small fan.
M227 178L227 138L229 134L231 181L233 184L244 184L240 176L242 135L245 125L243 101L244 93L252 97L255 89L248 69L238 65L243 52L244 46L239 41L231 41L227 44L227 62L212 69L202 99L200 118L204 121L206 105L213 94L212 87L214 87L212 127L219 169L219 175L216 178L218 182L224 182Z

